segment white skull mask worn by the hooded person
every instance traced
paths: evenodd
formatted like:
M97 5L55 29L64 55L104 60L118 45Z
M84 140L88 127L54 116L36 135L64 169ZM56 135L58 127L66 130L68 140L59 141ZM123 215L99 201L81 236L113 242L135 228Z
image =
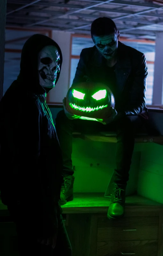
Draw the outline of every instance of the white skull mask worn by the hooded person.
M53 45L45 46L38 55L38 74L40 85L47 88L55 86L59 68L59 52Z

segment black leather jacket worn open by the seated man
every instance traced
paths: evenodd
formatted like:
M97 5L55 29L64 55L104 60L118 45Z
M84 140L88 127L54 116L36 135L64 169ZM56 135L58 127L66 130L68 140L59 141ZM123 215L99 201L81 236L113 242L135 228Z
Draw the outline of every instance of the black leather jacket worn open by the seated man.
M126 116L144 115L147 113L145 93L148 75L145 56L120 41L118 41L117 55L114 72L121 98L116 110ZM106 72L103 67L104 57L97 51L96 46L83 49L73 84L86 82L85 76L93 82L101 82L105 76L104 72ZM147 118L147 115L144 117Z

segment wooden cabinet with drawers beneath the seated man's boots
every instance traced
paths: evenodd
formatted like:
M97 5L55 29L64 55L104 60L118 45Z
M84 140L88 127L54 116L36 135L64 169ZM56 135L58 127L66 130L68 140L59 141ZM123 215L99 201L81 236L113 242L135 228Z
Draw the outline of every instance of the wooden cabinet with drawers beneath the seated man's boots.
M109 220L109 200L104 194L77 193L62 206L73 256L163 256L163 205L127 196L125 216ZM0 204L0 255L18 256L16 228L8 214Z

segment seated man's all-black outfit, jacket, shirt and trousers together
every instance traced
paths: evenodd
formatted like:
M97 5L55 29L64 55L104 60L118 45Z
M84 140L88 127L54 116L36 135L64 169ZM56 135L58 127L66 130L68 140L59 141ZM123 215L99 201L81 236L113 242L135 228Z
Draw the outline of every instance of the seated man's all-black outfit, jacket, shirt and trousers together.
M85 133L116 131L116 183L127 184L136 124L148 119L145 106L147 66L143 53L118 42L117 63L108 68L105 58L96 46L83 49L76 69L73 84L80 82L97 82L108 85L115 97L115 109L119 119L104 125L96 121L81 119L69 120L64 111L56 118L56 131L63 156L64 177L73 175L72 169L72 132Z

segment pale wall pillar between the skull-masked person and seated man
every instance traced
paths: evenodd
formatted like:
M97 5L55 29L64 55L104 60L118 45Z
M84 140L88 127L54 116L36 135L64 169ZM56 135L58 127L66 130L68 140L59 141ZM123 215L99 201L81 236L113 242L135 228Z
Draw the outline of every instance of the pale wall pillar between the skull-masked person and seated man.
M62 102L69 89L71 33L64 31L53 31L52 39L56 41L61 48L63 63L58 83L56 87L50 91L49 102Z

